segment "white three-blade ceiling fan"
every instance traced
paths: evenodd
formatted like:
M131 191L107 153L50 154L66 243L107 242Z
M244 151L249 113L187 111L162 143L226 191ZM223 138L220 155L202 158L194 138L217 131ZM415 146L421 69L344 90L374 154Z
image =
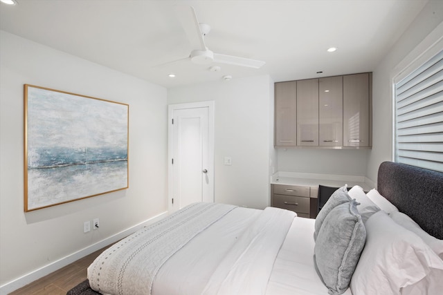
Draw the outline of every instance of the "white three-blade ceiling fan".
M261 68L265 64L264 61L255 59L213 53L213 51L206 47L204 41L204 37L210 31L210 26L207 23L199 23L199 21L197 21L194 8L192 8L192 6L178 5L174 6L174 10L177 17L179 17L181 26L183 26L192 48L195 48L186 59L190 59L195 64L210 64L211 62L216 62L220 64L246 66L249 68ZM170 64L171 62L174 61L166 64Z

